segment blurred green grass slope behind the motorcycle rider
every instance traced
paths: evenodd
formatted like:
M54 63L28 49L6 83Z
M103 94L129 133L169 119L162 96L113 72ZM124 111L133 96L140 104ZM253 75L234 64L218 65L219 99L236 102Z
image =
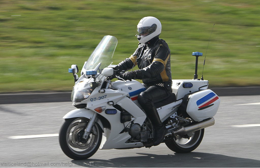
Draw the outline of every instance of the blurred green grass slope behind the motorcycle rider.
M105 35L117 37L117 64L136 49L144 16L162 23L173 79L192 79L194 51L208 46L210 87L260 86L260 3L256 0L1 0L0 92L68 91ZM203 57L199 58L201 76Z

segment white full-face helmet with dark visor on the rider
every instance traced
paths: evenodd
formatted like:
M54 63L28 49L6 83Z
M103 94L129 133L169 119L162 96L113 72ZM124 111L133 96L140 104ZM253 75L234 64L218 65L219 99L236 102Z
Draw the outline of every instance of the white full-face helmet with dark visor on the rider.
M150 39L161 34L161 22L153 17L147 16L141 19L137 25L137 39L140 43L146 43Z

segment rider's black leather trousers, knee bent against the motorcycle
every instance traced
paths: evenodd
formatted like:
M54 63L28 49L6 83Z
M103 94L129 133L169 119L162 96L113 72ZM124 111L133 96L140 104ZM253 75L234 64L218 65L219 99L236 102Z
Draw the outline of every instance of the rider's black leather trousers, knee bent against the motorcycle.
M141 92L138 96L138 103L144 109L147 117L150 119L155 127L159 127L162 122L159 114L154 106L154 103L160 102L166 99L172 93L171 89L166 87L160 87L157 85L147 86L144 92Z

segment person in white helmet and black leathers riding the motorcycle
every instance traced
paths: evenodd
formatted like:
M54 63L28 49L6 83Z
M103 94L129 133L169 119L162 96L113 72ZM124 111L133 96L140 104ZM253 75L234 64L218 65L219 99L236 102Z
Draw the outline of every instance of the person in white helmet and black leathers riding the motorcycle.
M163 39L159 39L161 29L161 23L157 18L142 18L137 25L136 36L140 42L138 48L133 55L118 64L119 70L129 70L136 65L139 68L123 73L122 78L130 81L143 80L146 90L139 94L138 103L155 128L154 146L160 144L167 133L154 103L168 98L172 93L170 49Z

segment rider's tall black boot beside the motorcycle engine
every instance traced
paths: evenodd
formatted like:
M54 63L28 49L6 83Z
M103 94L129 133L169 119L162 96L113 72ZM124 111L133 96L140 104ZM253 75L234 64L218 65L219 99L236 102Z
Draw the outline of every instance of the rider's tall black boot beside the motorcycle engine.
M164 135L167 133L168 130L161 122L159 114L154 106L144 110L148 118L152 122L153 126L155 127L154 136L153 136L153 145L157 146L163 141Z

